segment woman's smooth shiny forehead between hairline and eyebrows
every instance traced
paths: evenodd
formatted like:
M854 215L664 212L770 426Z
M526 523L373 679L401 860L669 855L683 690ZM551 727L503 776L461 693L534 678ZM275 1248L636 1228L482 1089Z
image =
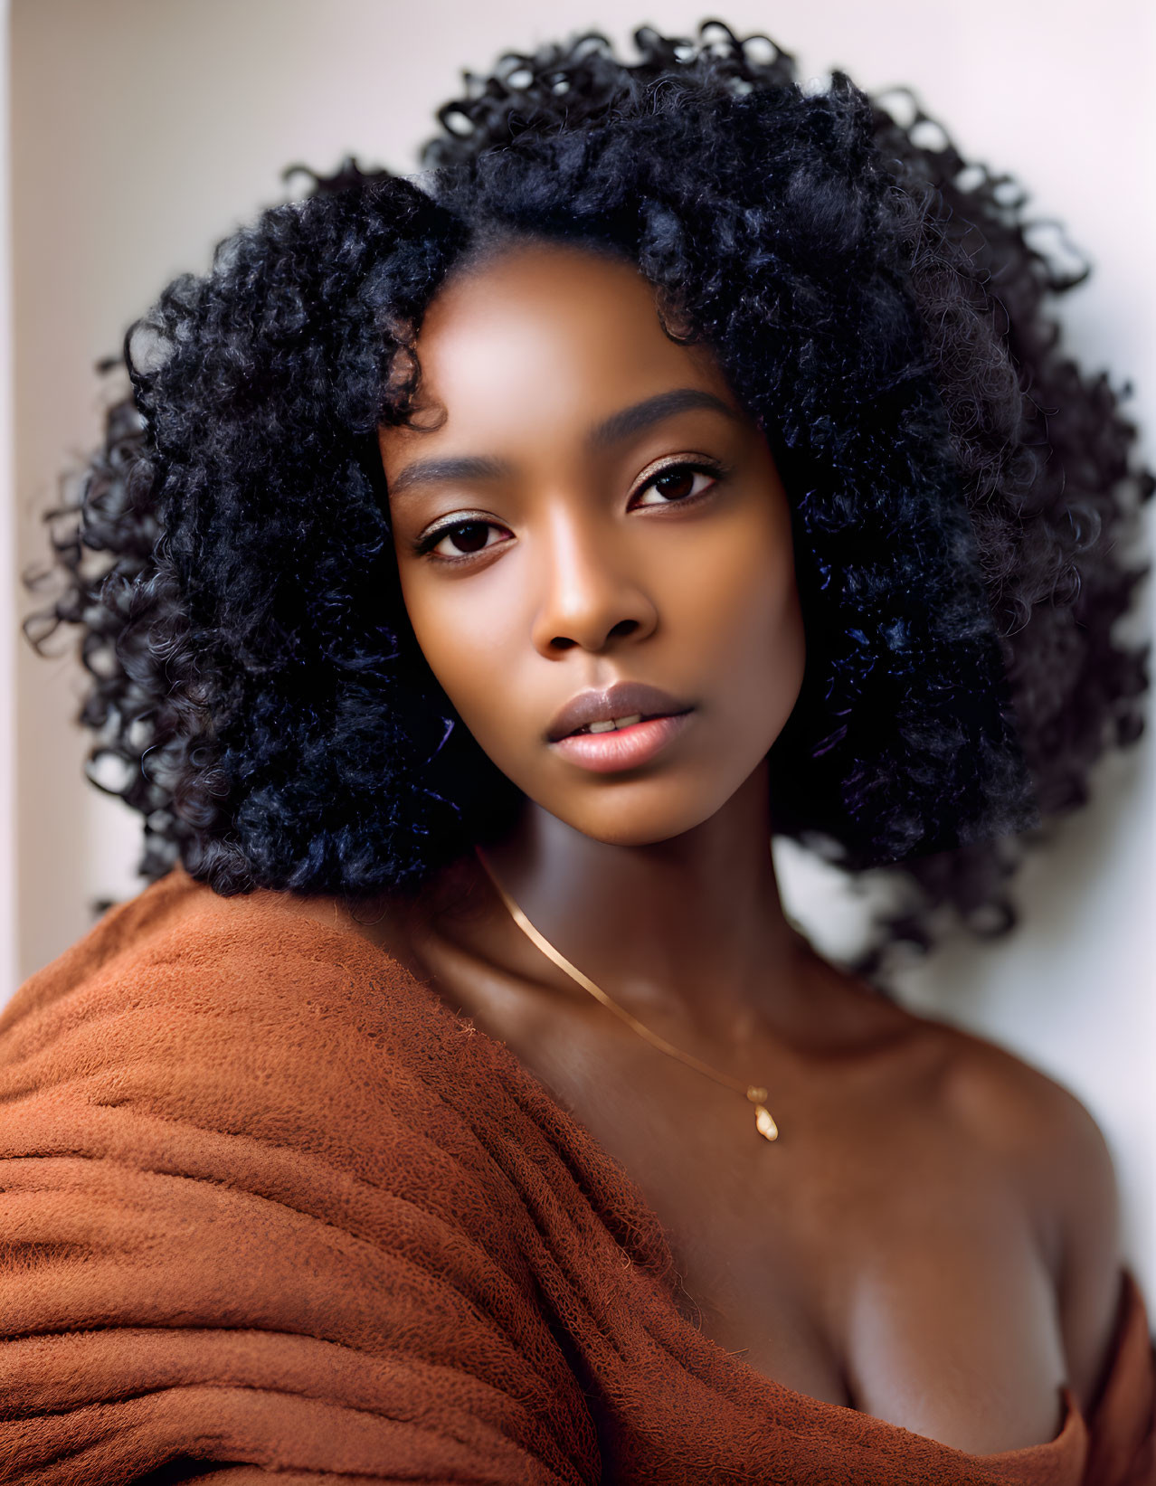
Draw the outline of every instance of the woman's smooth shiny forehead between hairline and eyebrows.
M673 342L631 265L525 244L452 278L418 336L418 428L382 431L391 456L575 443L621 407L673 388L733 403L715 358Z

